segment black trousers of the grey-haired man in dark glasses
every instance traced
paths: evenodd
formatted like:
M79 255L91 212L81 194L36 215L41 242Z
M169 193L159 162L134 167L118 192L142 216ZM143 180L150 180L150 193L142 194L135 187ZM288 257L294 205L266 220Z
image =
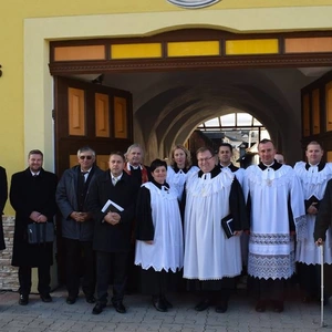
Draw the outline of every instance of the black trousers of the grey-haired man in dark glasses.
M81 271L83 271L82 290L86 297L92 297L95 291L95 258L92 241L79 241L66 238L64 238L64 241L69 297L76 298L79 295Z

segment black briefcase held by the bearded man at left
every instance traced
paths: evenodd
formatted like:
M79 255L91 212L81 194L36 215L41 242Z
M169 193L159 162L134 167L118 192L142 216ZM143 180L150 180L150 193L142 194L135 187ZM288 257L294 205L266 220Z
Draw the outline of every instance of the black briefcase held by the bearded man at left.
M53 222L28 224L28 242L30 245L53 242L55 234Z

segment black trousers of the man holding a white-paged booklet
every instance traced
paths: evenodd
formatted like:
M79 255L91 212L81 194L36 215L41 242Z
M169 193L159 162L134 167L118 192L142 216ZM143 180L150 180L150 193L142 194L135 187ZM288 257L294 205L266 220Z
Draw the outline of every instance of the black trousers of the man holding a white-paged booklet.
M124 298L127 282L129 252L96 251L96 292L100 303L107 303L110 278L113 276L112 302L118 303Z

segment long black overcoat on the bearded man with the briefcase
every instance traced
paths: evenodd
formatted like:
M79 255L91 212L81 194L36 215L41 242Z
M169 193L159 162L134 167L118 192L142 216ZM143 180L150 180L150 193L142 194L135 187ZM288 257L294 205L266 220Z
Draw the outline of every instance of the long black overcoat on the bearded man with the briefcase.
M12 266L38 267L53 263L53 243L29 245L28 224L32 211L39 211L53 222L56 212L56 176L41 169L33 177L29 168L15 173L11 178L10 204L15 210L15 229L12 252Z

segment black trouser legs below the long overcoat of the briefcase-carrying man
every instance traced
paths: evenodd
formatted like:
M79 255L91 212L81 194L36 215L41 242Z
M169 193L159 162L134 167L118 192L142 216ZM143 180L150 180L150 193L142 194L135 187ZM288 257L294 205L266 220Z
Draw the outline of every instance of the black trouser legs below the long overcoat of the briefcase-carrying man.
M51 291L51 266L38 267L38 291L40 294L48 294ZM31 291L31 267L19 267L20 294L29 295Z

